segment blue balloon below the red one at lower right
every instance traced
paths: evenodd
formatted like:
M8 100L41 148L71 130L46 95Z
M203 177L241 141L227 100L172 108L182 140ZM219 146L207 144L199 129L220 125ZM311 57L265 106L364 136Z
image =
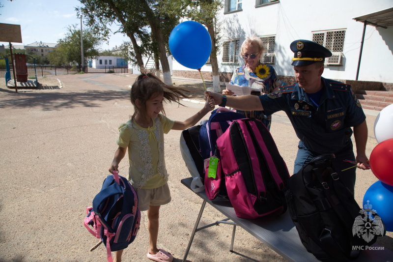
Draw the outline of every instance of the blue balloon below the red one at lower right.
M367 201L369 201L367 203ZM381 181L372 184L363 197L363 206L371 204L376 214L381 217L385 224L386 231L393 232L393 186Z

